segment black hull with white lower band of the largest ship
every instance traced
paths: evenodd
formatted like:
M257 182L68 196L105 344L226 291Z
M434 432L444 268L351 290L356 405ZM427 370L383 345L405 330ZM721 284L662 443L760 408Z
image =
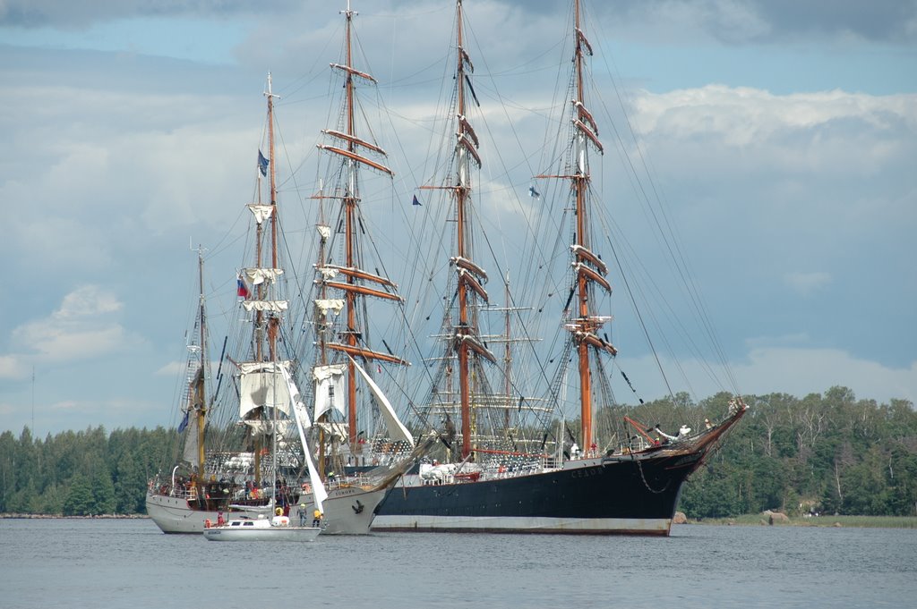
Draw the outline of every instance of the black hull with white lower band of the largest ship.
M398 484L373 530L668 535L681 485L703 452L587 459L479 482Z

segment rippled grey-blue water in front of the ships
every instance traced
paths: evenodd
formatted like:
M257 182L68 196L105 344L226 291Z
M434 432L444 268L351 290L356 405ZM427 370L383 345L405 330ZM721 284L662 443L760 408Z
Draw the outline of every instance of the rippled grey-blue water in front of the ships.
M0 520L0 607L915 606L917 530L385 533L214 543L147 519Z

